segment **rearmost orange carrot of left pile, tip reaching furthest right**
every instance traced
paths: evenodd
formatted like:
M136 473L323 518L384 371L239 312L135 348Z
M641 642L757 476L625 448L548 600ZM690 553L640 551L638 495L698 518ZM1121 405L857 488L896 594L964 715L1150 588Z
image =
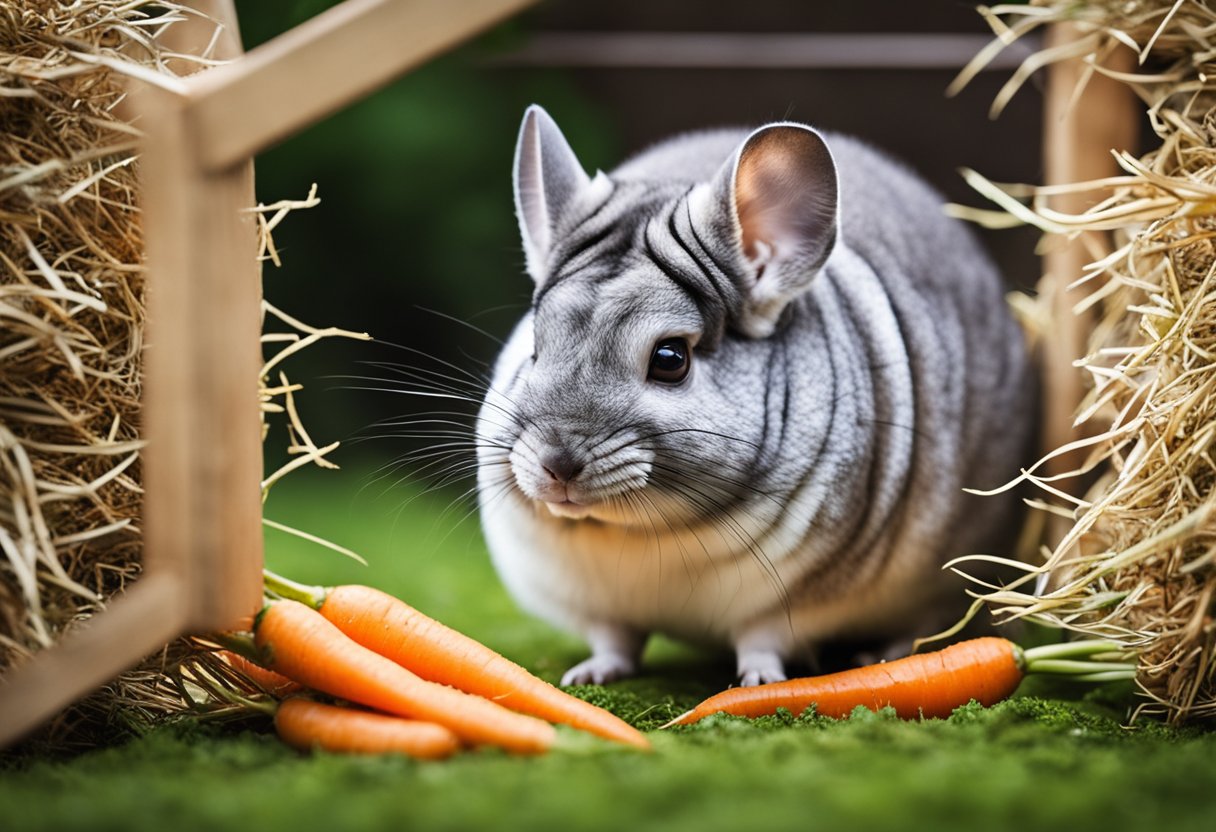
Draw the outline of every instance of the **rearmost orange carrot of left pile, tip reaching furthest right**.
M646 736L603 708L570 696L494 652L370 586L336 586L321 614L364 647L387 656L423 679L494 699L551 723L649 749Z

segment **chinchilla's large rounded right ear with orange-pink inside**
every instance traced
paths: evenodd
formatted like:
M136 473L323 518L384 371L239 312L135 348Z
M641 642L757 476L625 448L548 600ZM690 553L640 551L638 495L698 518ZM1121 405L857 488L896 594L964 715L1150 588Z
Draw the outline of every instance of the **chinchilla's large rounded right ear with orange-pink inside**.
M810 287L835 244L835 163L811 128L770 124L743 141L711 187L743 263L738 328L764 338L786 305Z

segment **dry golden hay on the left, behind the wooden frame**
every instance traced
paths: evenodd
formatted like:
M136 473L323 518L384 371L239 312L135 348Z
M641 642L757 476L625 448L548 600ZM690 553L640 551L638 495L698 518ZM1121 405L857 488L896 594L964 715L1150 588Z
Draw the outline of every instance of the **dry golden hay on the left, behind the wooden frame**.
M215 62L219 24L202 55L161 46L190 16L197 22L197 12L164 1L0 4L0 673L100 612L141 570L140 135L122 105L128 75L154 80ZM263 259L278 264L270 232L316 202L314 190L250 208ZM300 388L278 365L321 338L366 336L306 326L270 304L264 319L276 330L264 336L264 423L287 420L294 459L285 468L330 465L336 444L309 437L295 407ZM266 478L264 495L285 473ZM181 640L41 736L88 744L199 703L214 715L231 710L192 673L259 693L209 647Z

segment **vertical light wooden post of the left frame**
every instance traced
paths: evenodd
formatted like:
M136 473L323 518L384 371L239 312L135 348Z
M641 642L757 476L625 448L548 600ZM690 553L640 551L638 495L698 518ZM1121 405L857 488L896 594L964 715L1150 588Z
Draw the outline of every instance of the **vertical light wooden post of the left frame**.
M261 600L261 277L252 165L204 172L188 101L134 96L146 133L148 262L143 544L191 588L187 628L232 628Z

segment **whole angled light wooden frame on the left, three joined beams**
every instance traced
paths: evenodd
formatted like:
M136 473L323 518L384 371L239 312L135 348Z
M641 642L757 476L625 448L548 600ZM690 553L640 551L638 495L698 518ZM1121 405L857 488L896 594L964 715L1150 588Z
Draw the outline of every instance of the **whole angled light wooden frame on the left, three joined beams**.
M261 603L261 283L252 157L534 0L348 0L230 63L133 90L145 131L148 263L143 575L108 609L7 674L7 744L185 633L238 626ZM203 33L206 29L206 34ZM198 54L210 24L170 27Z

